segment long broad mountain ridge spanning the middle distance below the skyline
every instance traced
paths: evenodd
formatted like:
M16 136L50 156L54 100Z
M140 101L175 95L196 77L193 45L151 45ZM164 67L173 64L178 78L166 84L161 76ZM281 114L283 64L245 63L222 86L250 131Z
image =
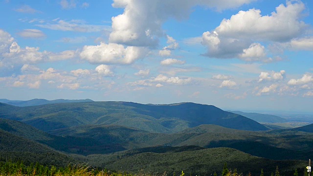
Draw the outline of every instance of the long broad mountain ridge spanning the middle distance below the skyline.
M20 108L0 105L0 117L20 120L43 131L90 124L118 124L162 133L180 132L201 124L249 131L268 130L242 115L195 103L143 105L131 102L84 102Z

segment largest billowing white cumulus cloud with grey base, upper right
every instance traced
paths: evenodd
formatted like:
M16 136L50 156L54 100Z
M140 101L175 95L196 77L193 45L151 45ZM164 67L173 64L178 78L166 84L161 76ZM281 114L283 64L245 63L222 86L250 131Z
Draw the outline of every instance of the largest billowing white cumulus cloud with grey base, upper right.
M240 11L224 19L212 32L204 32L202 44L208 57L239 58L247 62L274 62L280 57L268 57L259 42L288 42L300 36L307 24L300 21L305 5L301 1L287 1L276 7L270 16L262 16L261 10Z

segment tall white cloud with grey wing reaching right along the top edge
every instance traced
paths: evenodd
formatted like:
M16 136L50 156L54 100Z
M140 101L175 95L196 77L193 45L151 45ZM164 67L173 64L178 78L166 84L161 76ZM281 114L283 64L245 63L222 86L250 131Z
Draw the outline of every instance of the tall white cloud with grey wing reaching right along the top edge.
M254 0L114 0L112 6L124 8L112 17L110 42L133 46L156 46L163 36L162 24L169 18L185 19L196 5L222 10Z

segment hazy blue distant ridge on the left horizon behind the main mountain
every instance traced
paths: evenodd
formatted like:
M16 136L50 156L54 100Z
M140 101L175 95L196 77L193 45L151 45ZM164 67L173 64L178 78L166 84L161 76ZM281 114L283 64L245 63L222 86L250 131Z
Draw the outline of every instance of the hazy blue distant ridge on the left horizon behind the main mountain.
M32 100L8 100L8 99L0 99L0 103L5 103L13 106L18 107L26 107L26 106L38 106L38 105L46 105L46 104L55 104L55 103L78 103L78 102L93 102L90 99L84 100L65 100L65 99L58 99L58 100L45 100L45 99L32 99Z

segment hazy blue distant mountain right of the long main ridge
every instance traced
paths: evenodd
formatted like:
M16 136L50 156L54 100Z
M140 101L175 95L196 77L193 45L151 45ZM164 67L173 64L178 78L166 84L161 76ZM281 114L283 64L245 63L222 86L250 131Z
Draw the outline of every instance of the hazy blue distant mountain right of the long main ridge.
M287 119L284 119L284 118L276 116L276 115L261 114L261 113L254 113L254 112L230 111L230 110L228 110L228 112L232 112L235 114L245 116L245 117L252 119L254 121L257 121L259 123L284 123L284 122L288 122Z

